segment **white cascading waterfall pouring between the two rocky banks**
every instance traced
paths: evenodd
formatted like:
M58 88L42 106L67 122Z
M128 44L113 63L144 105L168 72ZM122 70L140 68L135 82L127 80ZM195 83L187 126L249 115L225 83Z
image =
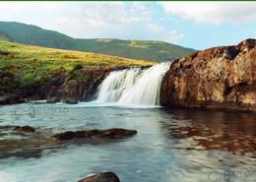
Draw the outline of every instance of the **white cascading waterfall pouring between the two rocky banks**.
M126 69L109 74L98 88L97 102L116 102L122 105L160 105L161 79L169 63L148 69Z

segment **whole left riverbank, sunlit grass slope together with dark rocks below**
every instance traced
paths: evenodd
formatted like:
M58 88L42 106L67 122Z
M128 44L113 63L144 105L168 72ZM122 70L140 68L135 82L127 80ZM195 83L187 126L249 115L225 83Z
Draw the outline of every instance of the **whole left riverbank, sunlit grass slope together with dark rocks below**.
M113 70L155 63L0 41L0 104L32 99L77 103L92 98Z

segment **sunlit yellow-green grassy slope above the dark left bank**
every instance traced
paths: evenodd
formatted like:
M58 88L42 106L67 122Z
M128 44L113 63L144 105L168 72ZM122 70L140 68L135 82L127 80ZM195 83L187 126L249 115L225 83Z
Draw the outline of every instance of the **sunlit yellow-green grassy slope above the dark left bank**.
M47 77L60 70L118 66L147 66L153 62L132 60L91 52L69 51L0 41L0 73L9 72L21 79Z

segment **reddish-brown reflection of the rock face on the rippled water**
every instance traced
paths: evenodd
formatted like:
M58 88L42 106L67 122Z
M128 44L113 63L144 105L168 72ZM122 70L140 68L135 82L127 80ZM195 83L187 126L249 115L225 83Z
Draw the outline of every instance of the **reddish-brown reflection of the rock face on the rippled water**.
M169 121L162 122L162 130L170 138L193 143L190 149L256 156L255 113L199 109L166 112L171 113L171 117Z

